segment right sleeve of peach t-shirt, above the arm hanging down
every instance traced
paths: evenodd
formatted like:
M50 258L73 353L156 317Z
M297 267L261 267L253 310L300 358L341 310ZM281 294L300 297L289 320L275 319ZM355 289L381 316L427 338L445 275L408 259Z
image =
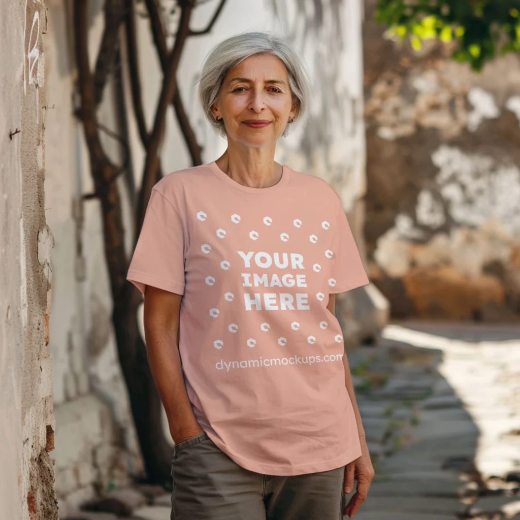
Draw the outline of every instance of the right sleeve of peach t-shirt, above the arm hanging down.
M332 251L332 278L336 281L330 293L342 293L369 283L367 273L361 262L347 217L341 205L334 225Z

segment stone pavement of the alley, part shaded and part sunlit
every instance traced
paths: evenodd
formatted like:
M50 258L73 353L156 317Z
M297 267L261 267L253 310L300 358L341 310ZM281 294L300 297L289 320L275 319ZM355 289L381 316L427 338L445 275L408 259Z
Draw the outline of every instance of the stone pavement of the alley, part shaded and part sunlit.
M348 360L376 471L357 520L520 519L520 327L394 324ZM69 519L170 520L161 488L110 496Z

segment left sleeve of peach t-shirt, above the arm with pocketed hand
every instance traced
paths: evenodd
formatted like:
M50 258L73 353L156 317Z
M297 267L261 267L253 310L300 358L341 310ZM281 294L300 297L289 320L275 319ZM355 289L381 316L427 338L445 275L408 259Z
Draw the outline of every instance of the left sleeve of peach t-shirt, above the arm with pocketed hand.
M185 229L174 206L153 189L126 279L184 294Z

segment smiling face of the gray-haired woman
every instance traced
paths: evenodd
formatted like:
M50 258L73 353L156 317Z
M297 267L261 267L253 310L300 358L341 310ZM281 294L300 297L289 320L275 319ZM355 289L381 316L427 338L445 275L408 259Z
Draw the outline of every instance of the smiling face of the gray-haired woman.
M272 54L243 60L227 73L212 110L228 139L254 148L275 142L296 115L283 62Z

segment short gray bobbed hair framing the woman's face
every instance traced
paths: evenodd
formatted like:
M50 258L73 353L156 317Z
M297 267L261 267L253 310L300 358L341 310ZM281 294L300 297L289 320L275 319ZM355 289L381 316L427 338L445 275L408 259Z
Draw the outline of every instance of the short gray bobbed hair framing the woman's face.
M199 99L206 118L225 136L224 122L217 121L211 107L220 94L226 74L241 61L258 54L272 54L279 58L289 75L291 94L296 99L296 119L302 118L308 109L310 96L309 76L296 49L282 36L265 32L246 32L231 36L219 43L207 56L199 82ZM287 135L290 124L285 127Z

